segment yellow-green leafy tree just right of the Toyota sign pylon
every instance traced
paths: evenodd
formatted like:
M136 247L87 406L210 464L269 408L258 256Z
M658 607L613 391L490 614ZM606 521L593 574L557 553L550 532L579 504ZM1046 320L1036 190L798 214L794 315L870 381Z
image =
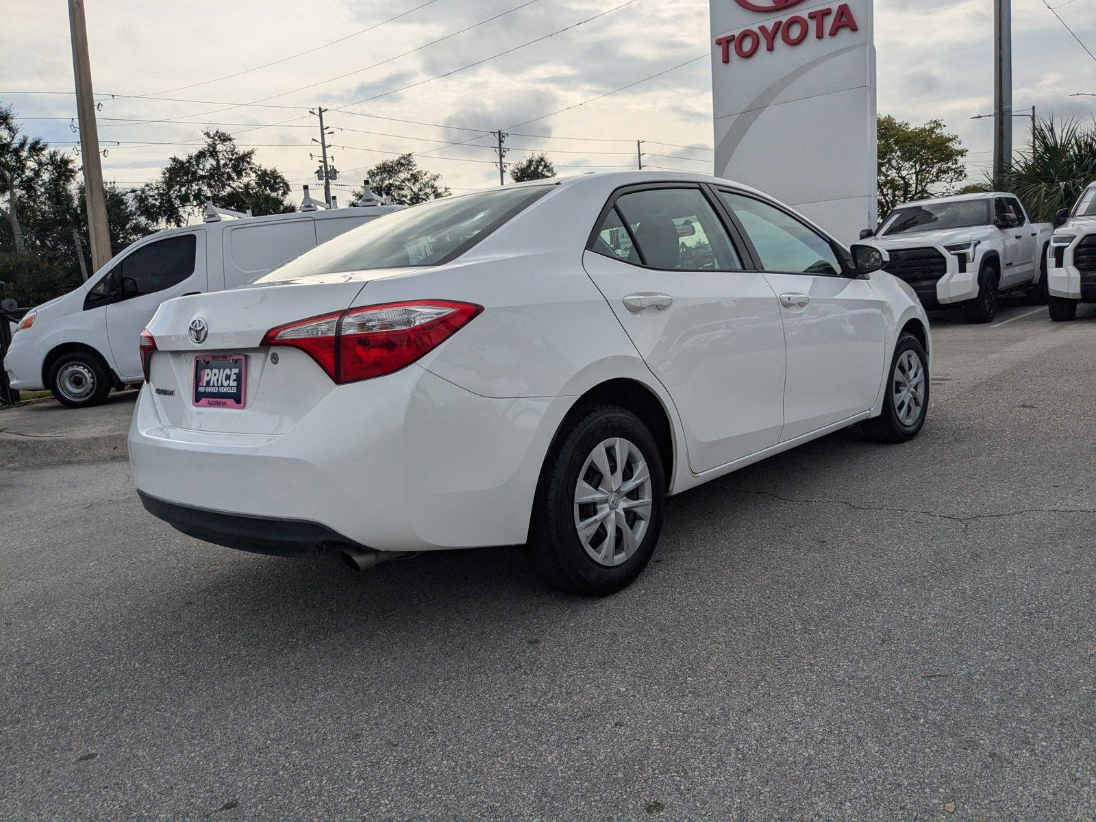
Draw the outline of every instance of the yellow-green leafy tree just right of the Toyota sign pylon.
M890 115L879 118L879 215L911 199L951 192L967 176L967 149L944 122L912 126Z

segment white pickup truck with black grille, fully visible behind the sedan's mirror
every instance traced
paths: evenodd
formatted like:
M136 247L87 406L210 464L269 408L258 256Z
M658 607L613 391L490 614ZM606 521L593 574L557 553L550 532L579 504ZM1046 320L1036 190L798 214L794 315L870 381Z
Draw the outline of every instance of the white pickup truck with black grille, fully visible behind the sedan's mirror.
M991 322L997 295L1024 288L1047 298L1047 252L1054 229L1031 222L1013 194L986 192L904 203L872 242L890 255L925 308L955 306L970 322Z

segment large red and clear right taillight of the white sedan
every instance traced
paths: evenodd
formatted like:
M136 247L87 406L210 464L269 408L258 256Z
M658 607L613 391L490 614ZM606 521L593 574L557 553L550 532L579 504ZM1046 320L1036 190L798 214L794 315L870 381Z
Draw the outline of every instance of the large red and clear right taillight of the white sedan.
M356 383L410 365L482 310L444 299L351 308L272 328L262 344L300 349L335 383Z

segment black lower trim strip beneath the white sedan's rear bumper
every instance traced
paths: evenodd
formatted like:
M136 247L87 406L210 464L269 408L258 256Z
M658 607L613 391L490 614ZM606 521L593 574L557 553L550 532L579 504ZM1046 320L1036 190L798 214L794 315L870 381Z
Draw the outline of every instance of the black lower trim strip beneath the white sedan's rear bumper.
M226 548L276 557L318 557L356 545L326 525L307 520L226 514L160 500L140 489L137 495L152 516L186 536Z

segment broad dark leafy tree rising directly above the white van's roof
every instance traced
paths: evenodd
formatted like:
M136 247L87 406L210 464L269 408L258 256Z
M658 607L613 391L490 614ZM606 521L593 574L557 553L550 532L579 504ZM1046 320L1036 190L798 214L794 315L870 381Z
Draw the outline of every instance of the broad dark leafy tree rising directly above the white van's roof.
M201 215L207 199L221 208L256 217L286 214L289 182L279 171L255 162L255 150L241 150L227 132L203 130L205 144L186 157L172 157L160 179L136 197L139 214L157 226L182 226Z

